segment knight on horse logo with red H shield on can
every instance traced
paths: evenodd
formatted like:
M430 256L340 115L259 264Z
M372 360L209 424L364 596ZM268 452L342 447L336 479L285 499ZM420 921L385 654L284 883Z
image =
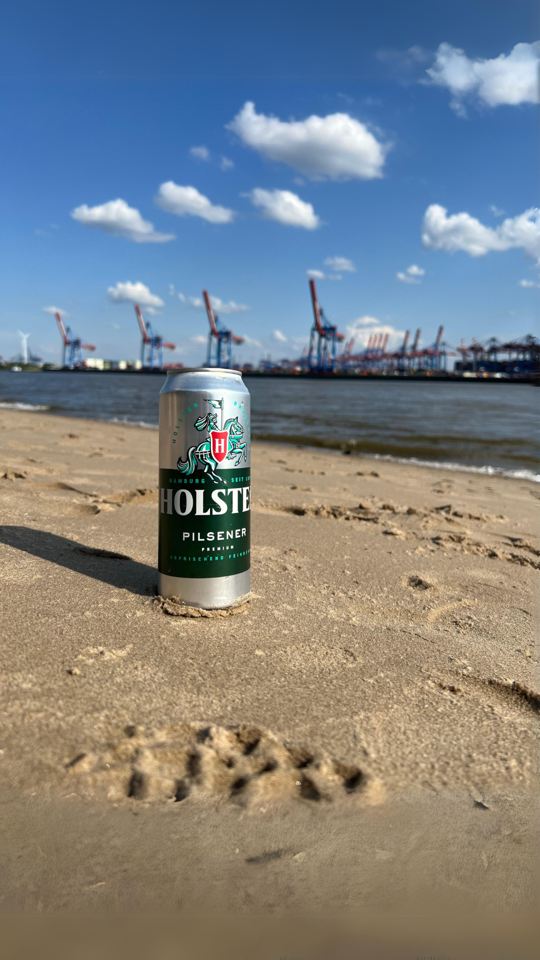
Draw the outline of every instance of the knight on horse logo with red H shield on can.
M224 460L232 460L234 467L239 467L242 461L246 463L246 444L240 443L244 428L238 423L237 417L230 417L223 422L223 397L220 400L207 400L207 403L216 410L221 410L221 429L217 429L217 415L211 411L205 417L195 420L195 429L207 430L209 440L198 446L190 446L185 460L179 457L177 467L186 476L194 473L196 469L203 469L214 483L226 483L215 471L217 465Z

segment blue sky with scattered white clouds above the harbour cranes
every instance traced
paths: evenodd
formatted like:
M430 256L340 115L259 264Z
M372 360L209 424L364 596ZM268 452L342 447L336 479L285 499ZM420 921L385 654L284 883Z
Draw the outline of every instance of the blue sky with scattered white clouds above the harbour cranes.
M136 299L167 359L200 363L205 287L238 359L292 357L307 271L357 347L536 332L537 21L522 0L5 7L0 354L22 329L58 361L56 306L94 355L136 357Z

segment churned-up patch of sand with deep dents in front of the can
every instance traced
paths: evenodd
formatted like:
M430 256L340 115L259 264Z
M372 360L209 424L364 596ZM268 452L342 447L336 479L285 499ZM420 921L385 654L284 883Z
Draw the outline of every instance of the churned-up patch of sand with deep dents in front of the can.
M66 786L110 800L170 801L213 797L257 807L300 800L330 803L357 795L380 802L380 788L354 763L291 744L258 727L170 724L145 731L130 724L92 753L64 761ZM372 796L373 794L373 796Z

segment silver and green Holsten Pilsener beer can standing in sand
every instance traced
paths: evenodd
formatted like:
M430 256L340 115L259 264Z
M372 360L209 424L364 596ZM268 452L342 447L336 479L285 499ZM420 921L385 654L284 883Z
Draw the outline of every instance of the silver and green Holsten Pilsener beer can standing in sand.
M250 420L239 371L167 373L160 391L162 597L205 610L249 597Z

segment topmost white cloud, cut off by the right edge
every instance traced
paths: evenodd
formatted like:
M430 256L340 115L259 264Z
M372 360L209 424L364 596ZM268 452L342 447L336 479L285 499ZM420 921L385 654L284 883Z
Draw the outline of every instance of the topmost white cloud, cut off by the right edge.
M507 57L493 60L470 60L458 47L441 43L427 73L432 84L448 87L451 107L464 116L464 97L486 107L537 104L539 60L540 42L517 43Z

